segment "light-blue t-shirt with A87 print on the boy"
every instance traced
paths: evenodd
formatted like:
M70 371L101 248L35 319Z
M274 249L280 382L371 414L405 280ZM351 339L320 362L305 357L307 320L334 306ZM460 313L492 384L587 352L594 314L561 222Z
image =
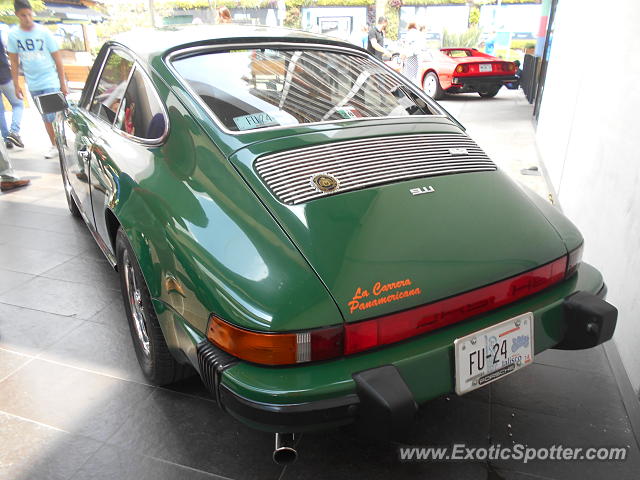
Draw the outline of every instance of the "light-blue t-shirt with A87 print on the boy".
M36 23L31 30L22 30L17 25L9 31L7 52L18 54L27 85L32 92L60 88L56 63L51 56L56 51L56 40L42 25Z

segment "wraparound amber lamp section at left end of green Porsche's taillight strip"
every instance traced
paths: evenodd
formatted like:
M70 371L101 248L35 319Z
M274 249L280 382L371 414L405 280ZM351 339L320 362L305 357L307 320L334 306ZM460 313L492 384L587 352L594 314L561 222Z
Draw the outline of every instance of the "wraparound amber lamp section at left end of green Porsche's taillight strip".
M261 333L211 315L207 338L225 352L263 365L292 365L343 354L342 325L291 333Z

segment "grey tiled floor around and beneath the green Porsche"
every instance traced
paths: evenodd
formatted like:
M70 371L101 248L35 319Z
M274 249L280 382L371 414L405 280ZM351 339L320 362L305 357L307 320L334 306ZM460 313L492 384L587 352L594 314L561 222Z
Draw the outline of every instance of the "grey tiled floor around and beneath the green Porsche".
M447 107L473 130L465 110L522 107L508 93ZM625 462L401 463L400 444L345 428L302 436L298 462L276 466L272 436L223 414L198 378L145 383L117 275L68 214L57 163L35 149L12 158L33 185L0 195L0 479L638 478L640 451L602 347L548 351L489 387L424 405L402 445L622 446Z

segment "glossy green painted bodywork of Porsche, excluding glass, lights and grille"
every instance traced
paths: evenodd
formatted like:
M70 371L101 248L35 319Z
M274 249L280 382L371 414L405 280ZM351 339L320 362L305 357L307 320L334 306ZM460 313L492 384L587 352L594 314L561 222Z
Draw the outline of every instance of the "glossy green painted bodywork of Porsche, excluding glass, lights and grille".
M124 230L179 361L199 368L196 347L206 340L212 313L259 332L356 322L512 277L582 244L569 220L500 170L403 180L294 206L282 203L255 169L262 155L311 144L462 131L452 119L435 115L227 133L176 78L168 53L222 44L233 35L237 43L338 42L280 30L221 32L217 39L198 33L180 43L165 35L146 42L149 51L134 51L166 107L169 131L163 142L132 141L78 105L70 105L56 126L85 220L112 262L115 232ZM86 165L77 154L83 142L91 145ZM73 179L83 168L88 181ZM434 193L409 193L427 185ZM373 309L350 309L358 288L404 279L420 294ZM423 403L453 391L456 338L531 311L538 353L565 335L563 300L602 287L598 271L582 264L576 275L541 293L426 335L304 365L237 362L224 370L221 384L253 402L293 405L353 395L354 372L395 365L416 402ZM280 428L241 419L264 430Z

